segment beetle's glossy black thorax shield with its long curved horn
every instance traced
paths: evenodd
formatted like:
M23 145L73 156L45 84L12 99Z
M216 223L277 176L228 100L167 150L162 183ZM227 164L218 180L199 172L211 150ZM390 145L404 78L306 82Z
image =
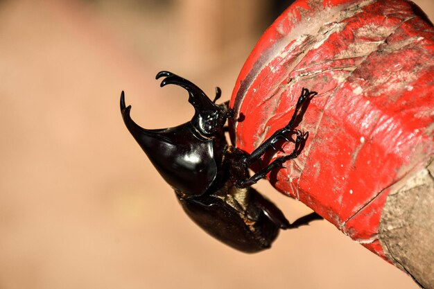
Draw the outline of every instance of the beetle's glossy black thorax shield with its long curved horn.
M212 142L198 139L190 122L175 128L141 128L131 119L130 110L122 91L123 122L164 180L175 190L191 195L207 190L216 175L214 155L209 148Z

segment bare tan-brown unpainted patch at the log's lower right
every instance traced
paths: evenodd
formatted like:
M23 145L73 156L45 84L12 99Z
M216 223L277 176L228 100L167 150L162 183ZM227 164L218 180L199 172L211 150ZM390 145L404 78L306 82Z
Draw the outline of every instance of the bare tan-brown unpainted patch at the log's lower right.
M379 226L385 256L423 288L434 288L434 161L388 195Z

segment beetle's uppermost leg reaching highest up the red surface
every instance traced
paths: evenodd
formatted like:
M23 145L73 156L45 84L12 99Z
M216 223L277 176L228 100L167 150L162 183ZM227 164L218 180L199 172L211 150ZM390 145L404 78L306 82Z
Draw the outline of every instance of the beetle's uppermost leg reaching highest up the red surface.
M309 89L303 88L302 94L297 100L297 105L295 105L294 114L288 124L284 128L277 130L274 134L272 134L271 137L261 143L261 146L259 146L248 157L245 158L245 163L250 166L255 161L260 159L269 149L275 150L275 147L273 145L275 145L275 143L277 143L279 139L285 139L286 141L288 141L286 135L294 132L294 129L297 127L298 123L300 123L302 119L304 111L306 110L306 105L309 105L309 101L313 98L313 96L317 94L318 93L315 91L309 91Z

